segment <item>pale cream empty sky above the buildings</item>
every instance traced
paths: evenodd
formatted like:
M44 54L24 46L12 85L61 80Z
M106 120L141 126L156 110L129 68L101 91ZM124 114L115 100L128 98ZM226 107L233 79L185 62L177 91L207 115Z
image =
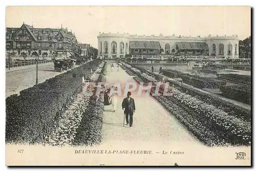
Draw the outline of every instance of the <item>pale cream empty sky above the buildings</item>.
M6 27L68 28L81 43L97 48L104 33L201 37L251 35L248 6L9 6Z

